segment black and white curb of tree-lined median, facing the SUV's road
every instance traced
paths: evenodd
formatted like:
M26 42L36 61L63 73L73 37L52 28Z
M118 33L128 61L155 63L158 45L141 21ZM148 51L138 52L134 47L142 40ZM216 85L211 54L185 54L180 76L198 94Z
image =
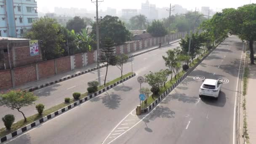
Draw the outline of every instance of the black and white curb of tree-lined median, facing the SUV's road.
M218 45L217 45L218 46ZM216 47L217 47L216 46ZM154 107L157 106L157 104L160 103L160 101L162 101L165 96L167 96L169 93L171 93L171 91L173 91L174 88L176 88L177 85L179 85L179 83L182 82L182 80L184 80L203 60L205 60L205 58L207 58L216 48L213 48L211 51L209 51L207 53L207 55L205 55L200 61L197 62L197 64L195 64L195 66L189 68L187 70L187 72L182 75L181 78L179 78L179 80L176 81L176 83L174 83L170 88L168 88L168 90L166 90L161 96L159 96L158 99L156 99L152 104L150 104L147 108L145 109L141 109L141 112L142 113L146 113L146 112L149 112L151 111Z

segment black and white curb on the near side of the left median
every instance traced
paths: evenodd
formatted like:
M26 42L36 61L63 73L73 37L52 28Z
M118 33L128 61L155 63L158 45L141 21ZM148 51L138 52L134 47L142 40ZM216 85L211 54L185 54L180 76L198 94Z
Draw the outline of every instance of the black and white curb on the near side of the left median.
M97 91L96 93L93 93L93 94L91 94L91 95L89 95L89 96L87 96L87 97L85 97L83 99L80 99L80 100L76 101L75 103L70 104L67 107L59 109L58 111L53 112L50 115L47 115L47 116L41 118L40 120L37 120L37 121L35 121L35 122L33 122L33 123L23 127L23 128L20 128L17 131L14 131L14 132L12 132L12 133L2 137L0 139L0 143L3 143L3 142L5 142L5 141L7 141L9 139L12 139L13 137L18 136L19 134L24 133L24 132L28 131L29 129L35 127L36 125L40 125L41 123L44 123L47 120L50 120L53 117L56 117L56 116L60 115L61 113L67 112L69 109L72 109L73 107L76 107L77 105L82 104L85 101L88 101L88 100L90 100L90 99L92 99L92 98L94 98L96 96L99 96L101 93L104 93L105 91L108 91L109 89L114 88L115 86L119 85L120 83L123 83L126 80L129 80L129 79L131 79L132 77L135 77L135 76L136 76L136 74L134 73L133 75L130 75L129 77L126 77L126 78L124 78L124 79L122 79L122 80L120 80L120 81L118 81L118 82L116 82L116 83L114 83L112 85L109 85L106 88L103 88L100 91Z

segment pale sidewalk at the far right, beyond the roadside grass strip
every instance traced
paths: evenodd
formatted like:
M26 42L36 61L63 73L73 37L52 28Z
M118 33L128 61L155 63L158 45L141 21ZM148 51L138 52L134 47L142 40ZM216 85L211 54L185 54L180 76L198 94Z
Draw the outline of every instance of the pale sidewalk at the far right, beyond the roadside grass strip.
M250 144L256 144L256 65L249 65L250 75L246 99L247 129Z

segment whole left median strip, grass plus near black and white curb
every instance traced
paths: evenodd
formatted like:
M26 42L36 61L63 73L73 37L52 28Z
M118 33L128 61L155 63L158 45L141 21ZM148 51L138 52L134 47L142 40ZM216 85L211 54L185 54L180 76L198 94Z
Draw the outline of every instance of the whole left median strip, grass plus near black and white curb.
M131 79L132 77L136 76L135 73L129 72L126 75L123 75L123 79L120 77L116 78L115 80L112 80L108 83L106 83L106 87L104 85L101 85L98 87L100 89L99 91L95 93L88 94L88 92L81 95L81 98L79 100L72 99L70 103L61 103L54 107L51 107L49 109L46 109L43 112L42 116L39 116L38 114L32 115L30 117L27 117L27 122L24 123L24 120L20 120L12 125L11 131L6 131L5 128L0 129L0 143L3 143L9 139L12 139L13 137L24 133L28 131L29 129L35 127L36 125L40 125L41 123L44 123L47 120L52 119L53 117L56 117L60 115L61 113L67 112L69 109L72 109L73 107L76 107L79 104L84 103L85 101L88 101L96 96L99 96L101 93L104 93L105 91L108 91L111 88L114 88L115 86L119 85L120 83L125 82L126 80ZM3 137L2 137L3 136Z

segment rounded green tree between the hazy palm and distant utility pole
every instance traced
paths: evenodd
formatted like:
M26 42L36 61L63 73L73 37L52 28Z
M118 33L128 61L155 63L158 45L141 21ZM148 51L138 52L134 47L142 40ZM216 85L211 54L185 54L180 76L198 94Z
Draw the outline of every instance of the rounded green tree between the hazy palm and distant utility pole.
M163 25L162 21L155 20L152 25L147 28L147 32L149 32L154 37L163 37L168 34L166 28Z

